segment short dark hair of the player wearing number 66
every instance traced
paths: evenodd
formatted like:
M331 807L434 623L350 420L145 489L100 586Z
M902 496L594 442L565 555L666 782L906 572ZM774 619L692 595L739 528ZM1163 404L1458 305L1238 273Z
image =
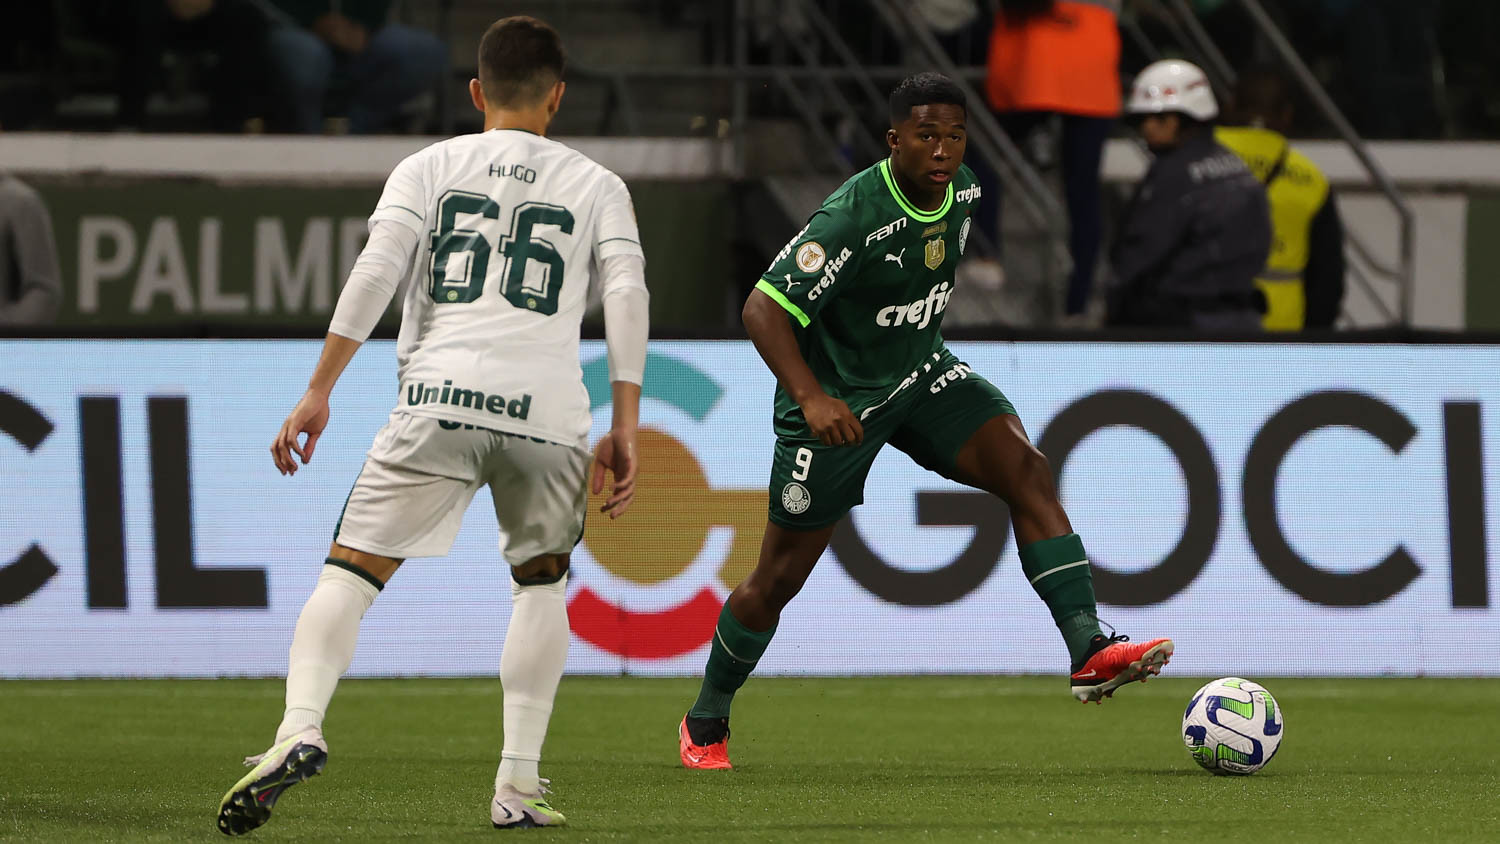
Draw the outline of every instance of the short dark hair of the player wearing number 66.
M528 15L495 21L478 42L478 84L490 105L536 105L566 67L558 31Z

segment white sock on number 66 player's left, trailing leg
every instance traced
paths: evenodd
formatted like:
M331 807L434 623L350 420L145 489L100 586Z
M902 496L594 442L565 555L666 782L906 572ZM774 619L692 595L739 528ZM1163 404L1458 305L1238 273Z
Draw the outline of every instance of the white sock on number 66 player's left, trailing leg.
M360 619L375 603L380 589L338 565L324 565L318 586L297 616L286 660L286 714L276 729L276 741L316 727L339 685L339 678L354 660Z

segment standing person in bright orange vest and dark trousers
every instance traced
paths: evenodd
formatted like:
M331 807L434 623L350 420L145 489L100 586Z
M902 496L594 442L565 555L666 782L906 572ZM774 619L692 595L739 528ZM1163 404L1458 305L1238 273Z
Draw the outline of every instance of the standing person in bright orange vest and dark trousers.
M1100 253L1100 162L1120 112L1119 6L1119 0L1000 0L990 36L990 106L1011 138L1024 144L1050 115L1062 120L1072 253L1068 316L1084 313ZM993 217L976 222L990 226Z

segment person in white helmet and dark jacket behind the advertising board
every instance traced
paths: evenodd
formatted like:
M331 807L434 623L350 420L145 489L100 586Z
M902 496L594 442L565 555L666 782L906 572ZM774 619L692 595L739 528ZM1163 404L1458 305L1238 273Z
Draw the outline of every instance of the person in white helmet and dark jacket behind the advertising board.
M1256 331L1270 252L1266 189L1214 141L1208 76L1179 60L1140 72L1126 112L1155 154L1113 252L1113 325Z

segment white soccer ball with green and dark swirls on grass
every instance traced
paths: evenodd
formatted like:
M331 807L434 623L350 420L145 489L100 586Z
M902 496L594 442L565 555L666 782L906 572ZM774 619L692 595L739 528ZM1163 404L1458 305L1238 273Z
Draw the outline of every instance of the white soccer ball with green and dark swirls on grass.
M1192 694L1182 742L1214 774L1254 774L1276 756L1281 727L1281 706L1263 685L1224 678Z

